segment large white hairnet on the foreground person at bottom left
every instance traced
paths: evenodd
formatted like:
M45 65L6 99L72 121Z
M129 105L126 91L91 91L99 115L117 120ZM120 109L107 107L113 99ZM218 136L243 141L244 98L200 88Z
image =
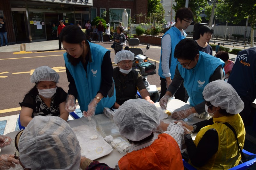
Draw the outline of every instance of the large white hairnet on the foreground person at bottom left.
M19 141L20 161L31 169L78 169L80 150L75 133L57 116L35 116Z

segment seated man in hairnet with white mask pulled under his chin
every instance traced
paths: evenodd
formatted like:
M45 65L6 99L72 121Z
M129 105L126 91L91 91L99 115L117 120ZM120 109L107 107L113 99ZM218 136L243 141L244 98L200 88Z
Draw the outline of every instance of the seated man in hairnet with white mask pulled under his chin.
M150 99L141 75L132 68L133 60L134 54L131 51L122 50L116 53L115 63L118 67L113 69L113 78L116 87L115 108L118 108L129 99L136 99L137 90L142 99L154 104Z

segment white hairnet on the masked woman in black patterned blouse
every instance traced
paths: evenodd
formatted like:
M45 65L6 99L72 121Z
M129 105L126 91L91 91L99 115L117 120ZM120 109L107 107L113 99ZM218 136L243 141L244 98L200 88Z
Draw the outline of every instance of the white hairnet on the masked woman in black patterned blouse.
M31 83L37 83L39 81L55 81L59 83L59 74L48 66L37 67L33 72L30 81Z

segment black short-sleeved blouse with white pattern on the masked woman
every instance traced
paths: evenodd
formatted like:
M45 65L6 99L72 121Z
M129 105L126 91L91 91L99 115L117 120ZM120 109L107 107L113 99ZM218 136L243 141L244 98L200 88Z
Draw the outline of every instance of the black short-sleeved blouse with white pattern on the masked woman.
M44 101L37 93L28 93L25 95L20 107L25 106L33 109L32 118L34 116L60 116L60 103L66 101L67 93L57 87L56 93L52 96L51 108L47 107Z

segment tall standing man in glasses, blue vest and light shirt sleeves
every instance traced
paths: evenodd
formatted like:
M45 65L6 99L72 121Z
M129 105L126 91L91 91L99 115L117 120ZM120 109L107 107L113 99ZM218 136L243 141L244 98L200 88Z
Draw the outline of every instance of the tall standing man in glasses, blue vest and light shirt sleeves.
M161 57L158 69L158 75L161 80L160 99L164 96L166 89L174 78L177 59L174 58L175 46L184 39L187 34L183 31L193 22L193 12L190 8L180 8L176 12L175 25L172 26L162 37ZM175 94L175 99L185 102L185 89L183 83Z

